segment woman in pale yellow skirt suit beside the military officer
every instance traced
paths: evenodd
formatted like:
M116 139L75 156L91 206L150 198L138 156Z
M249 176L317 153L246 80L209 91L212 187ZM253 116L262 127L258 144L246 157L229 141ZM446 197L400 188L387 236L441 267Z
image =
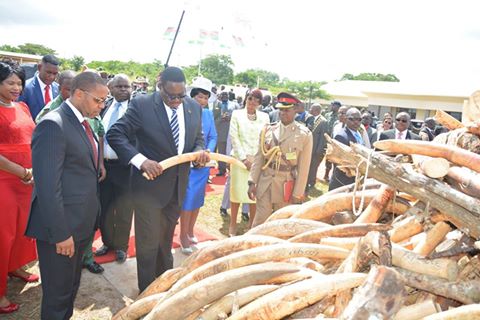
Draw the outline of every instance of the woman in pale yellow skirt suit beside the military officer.
M234 236L237 233L237 214L240 203L250 204L249 227L251 227L255 217L255 201L248 197L248 174L254 155L258 150L260 131L270 122L268 114L258 111L262 98L260 90L255 89L251 91L247 96L245 108L233 111L230 122L231 155L242 161L247 167L247 169L242 169L238 166L230 168L231 217L228 229L230 236Z

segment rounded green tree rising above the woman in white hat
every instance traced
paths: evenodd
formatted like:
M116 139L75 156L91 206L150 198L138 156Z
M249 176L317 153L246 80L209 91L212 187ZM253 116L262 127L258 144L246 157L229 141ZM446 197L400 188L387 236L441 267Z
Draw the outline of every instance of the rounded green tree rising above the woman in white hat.
M216 84L233 83L233 61L227 55L209 55L201 60L200 74Z

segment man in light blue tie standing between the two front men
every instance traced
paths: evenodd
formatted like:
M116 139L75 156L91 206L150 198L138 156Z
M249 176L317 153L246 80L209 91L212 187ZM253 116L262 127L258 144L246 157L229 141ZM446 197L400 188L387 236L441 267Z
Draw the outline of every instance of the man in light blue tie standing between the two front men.
M130 80L124 74L113 77L109 87L113 98L105 103L105 109L100 113L106 133L127 111L132 92ZM107 170L107 177L100 183L100 231L103 246L95 255L103 256L109 250L115 250L117 262L123 263L127 259L133 216L129 186L130 166L120 162L107 139L104 143L103 158Z

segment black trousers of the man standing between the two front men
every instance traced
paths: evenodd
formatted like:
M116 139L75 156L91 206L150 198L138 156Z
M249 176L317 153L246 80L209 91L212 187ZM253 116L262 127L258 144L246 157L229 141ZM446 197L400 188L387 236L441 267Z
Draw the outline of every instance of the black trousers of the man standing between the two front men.
M107 178L100 183L102 241L111 249L127 251L133 215L130 167L105 161L105 169Z

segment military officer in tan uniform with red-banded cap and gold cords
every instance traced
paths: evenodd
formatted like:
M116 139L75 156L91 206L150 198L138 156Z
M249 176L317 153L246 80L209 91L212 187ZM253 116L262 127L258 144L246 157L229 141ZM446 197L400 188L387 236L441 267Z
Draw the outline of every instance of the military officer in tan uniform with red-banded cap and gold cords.
M274 210L301 203L312 156L312 134L295 120L295 96L281 92L276 108L280 122L266 125L248 179L248 196L257 201L253 226L262 224Z

